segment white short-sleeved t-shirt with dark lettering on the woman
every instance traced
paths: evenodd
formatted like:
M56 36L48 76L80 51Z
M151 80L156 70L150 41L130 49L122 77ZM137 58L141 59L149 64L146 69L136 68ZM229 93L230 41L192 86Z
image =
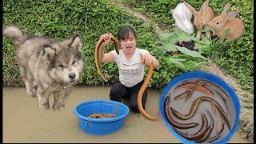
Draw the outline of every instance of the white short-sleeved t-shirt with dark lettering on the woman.
M138 82L142 82L144 78L144 64L142 63L141 54L144 55L148 52L135 48L134 55L128 61L123 50L119 50L119 55L115 50L111 53L114 54L114 62L118 65L119 81L126 87L134 86Z

